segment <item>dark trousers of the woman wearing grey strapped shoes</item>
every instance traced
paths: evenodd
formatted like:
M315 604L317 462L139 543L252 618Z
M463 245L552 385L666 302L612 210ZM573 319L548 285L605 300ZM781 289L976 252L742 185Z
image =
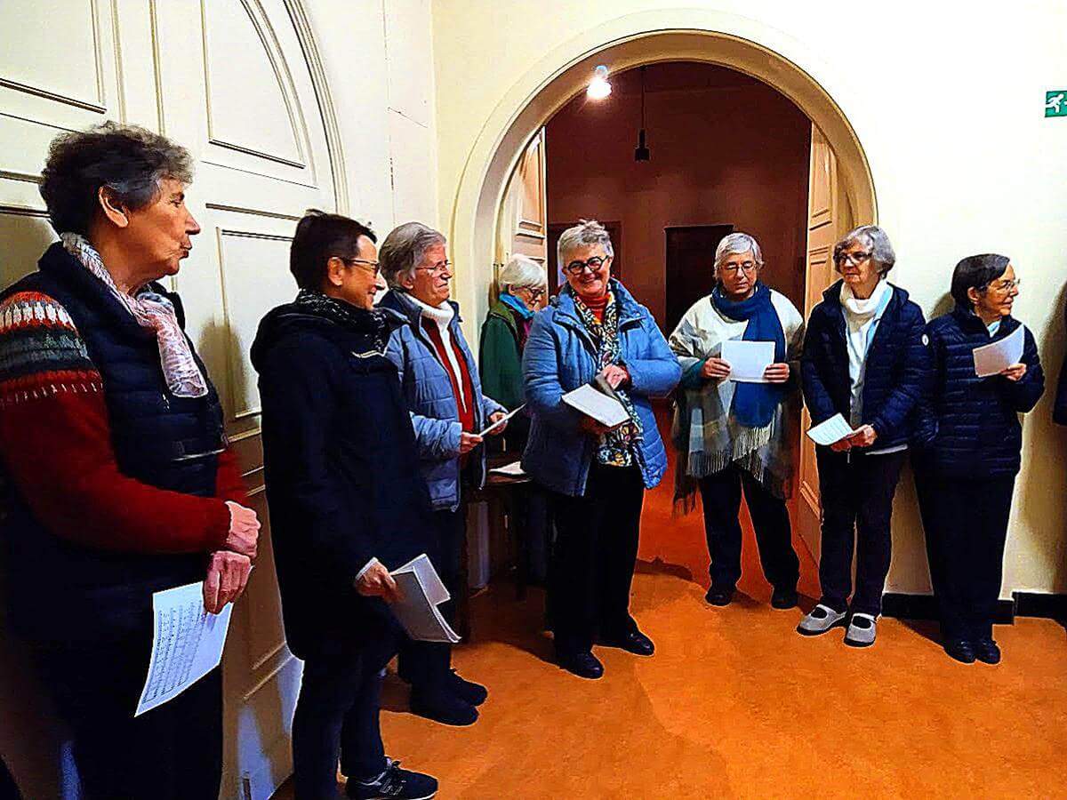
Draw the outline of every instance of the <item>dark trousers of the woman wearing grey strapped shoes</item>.
M856 549L856 594L851 611L877 617L892 555L890 519L893 495L907 450L881 455L816 449L818 492L823 503L819 603L834 611L849 608L853 593L853 548Z

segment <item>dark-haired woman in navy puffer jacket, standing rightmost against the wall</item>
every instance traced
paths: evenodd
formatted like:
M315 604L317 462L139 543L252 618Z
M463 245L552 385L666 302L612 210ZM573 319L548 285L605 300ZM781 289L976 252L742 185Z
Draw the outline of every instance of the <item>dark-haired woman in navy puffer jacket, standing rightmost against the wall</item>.
M956 265L956 307L926 326L934 381L922 402L933 435L915 460L915 487L945 652L964 663L1000 661L992 623L1000 596L1015 476L1019 414L1037 404L1045 374L1023 327L1022 358L980 378L974 349L1012 336L1019 281L1006 256L970 256Z

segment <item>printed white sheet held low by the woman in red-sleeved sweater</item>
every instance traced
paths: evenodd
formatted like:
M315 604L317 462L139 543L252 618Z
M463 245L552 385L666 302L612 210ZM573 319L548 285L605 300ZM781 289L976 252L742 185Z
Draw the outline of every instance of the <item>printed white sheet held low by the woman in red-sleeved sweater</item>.
M234 604L204 610L204 581L152 595L152 656L134 717L173 700L219 666Z

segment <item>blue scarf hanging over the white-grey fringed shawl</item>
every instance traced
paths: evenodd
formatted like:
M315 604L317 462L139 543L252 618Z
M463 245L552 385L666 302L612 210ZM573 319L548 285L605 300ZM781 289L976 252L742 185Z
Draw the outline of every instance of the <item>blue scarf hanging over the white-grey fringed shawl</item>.
M770 302L770 289L757 284L752 297L734 303L722 293L721 286L716 286L712 303L722 316L737 322L748 321L743 341L774 341L775 363L785 361L785 332ZM734 388L734 417L746 428L764 428L770 425L784 396L785 384L738 383Z

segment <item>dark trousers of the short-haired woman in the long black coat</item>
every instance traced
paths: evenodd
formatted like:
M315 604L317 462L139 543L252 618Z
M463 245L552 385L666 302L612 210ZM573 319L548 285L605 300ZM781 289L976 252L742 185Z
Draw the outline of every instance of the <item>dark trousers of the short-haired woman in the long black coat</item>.
M362 641L343 655L310 656L292 718L292 763L297 800L337 797L337 758L349 778L366 779L385 769L379 727L382 670L402 633L383 620L362 631Z

